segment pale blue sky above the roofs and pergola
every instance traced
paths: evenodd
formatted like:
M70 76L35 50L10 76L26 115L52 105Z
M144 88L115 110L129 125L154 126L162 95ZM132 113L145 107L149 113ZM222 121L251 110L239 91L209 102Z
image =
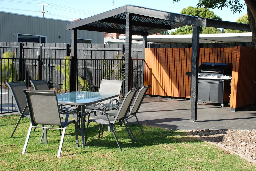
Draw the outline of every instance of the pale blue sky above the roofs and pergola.
M36 0L0 0L0 11L41 17L42 13L36 11L42 11L42 5L37 5L42 4L42 2ZM114 5L112 2L113 0L47 0L44 1L44 4L49 5L44 5L44 11L48 11L48 13L45 13L44 17L61 20L87 18L127 4L180 13L183 8L188 6L196 7L198 0L180 0L178 3L173 3L173 0L114 0ZM244 3L243 0L240 2ZM214 9L212 11L217 16L220 16L222 20L233 22L247 13L246 7L240 14L234 13L234 15L227 8L222 10Z

